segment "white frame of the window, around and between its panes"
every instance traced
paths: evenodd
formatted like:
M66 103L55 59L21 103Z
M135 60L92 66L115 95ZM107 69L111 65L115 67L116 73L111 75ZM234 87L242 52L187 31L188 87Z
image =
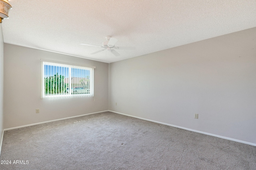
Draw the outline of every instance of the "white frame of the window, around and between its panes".
M67 67L69 69L68 72L68 93L65 94L49 94L45 95L45 82L44 82L44 65L52 65L52 66L60 66L60 67ZM71 88L72 86L72 69L82 69L82 70L90 70L90 74L87 74L86 76L90 76L90 83L89 83L89 92L86 94L77 94L77 93L72 93ZM78 98L78 97L93 97L94 96L94 68L95 66L88 66L88 65L83 65L83 64L74 64L74 63L66 63L66 62L61 62L61 61L52 61L52 60L46 60L46 59L41 59L41 99L45 98ZM85 77L84 77L85 78ZM75 82L77 83L77 82Z

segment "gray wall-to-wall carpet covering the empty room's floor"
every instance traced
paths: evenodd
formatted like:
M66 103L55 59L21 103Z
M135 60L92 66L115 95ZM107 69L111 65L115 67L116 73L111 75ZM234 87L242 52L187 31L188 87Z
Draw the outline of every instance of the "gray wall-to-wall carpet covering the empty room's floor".
M105 112L5 131L0 160L11 161L1 170L256 170L256 147Z

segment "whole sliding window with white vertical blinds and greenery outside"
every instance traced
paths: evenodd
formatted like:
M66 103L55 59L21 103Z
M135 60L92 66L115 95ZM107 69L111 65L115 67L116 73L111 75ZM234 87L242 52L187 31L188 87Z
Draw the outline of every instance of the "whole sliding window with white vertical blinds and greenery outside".
M42 61L41 98L94 96L94 68Z

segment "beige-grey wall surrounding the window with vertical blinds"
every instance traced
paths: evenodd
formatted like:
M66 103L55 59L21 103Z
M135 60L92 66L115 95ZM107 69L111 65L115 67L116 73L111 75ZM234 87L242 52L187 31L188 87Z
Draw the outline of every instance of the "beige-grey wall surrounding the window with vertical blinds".
M96 66L95 102L93 97L40 99L41 58ZM105 110L108 63L4 44L4 129Z

